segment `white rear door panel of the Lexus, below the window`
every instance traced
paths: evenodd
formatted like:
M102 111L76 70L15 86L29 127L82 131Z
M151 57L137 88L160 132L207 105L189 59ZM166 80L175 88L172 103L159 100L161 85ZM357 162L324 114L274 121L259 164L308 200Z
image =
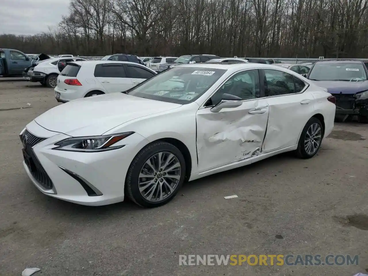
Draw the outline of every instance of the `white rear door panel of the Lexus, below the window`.
M266 99L269 120L262 153L296 145L304 125L314 114L315 98L305 91Z

